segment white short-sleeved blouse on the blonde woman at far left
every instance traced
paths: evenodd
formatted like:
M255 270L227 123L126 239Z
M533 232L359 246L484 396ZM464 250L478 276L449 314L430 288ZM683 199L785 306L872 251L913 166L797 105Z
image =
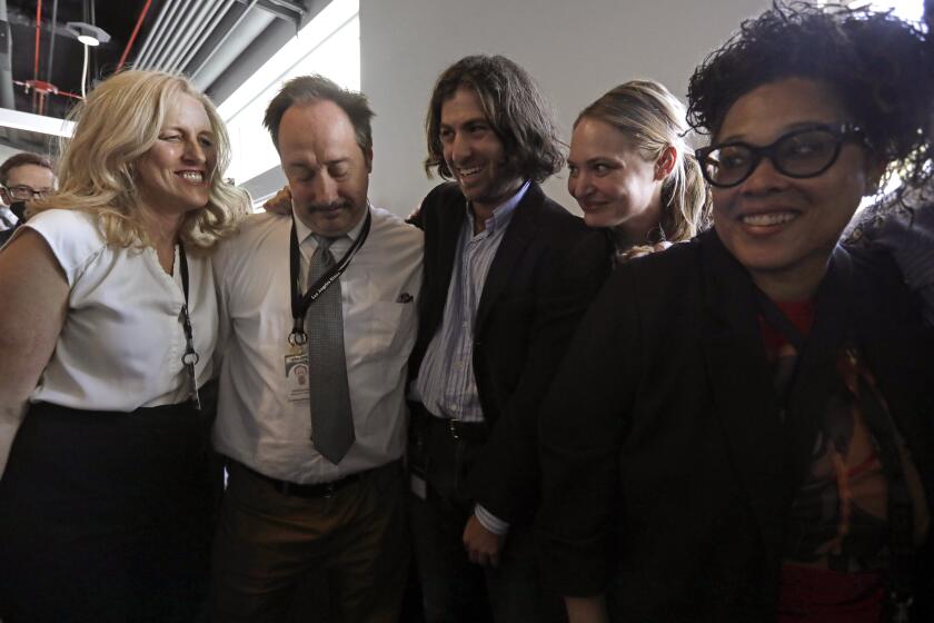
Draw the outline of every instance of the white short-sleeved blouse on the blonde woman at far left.
M44 238L69 286L64 325L30 400L120 412L187 400L178 248L168 275L155 248L108 245L87 212L46 210L22 228ZM210 259L188 253L188 274L200 386L211 377L217 343Z

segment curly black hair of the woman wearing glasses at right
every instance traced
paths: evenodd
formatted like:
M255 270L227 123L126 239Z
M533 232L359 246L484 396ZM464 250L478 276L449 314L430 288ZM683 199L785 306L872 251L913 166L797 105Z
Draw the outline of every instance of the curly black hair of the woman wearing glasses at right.
M738 98L784 78L829 87L883 162L931 177L934 53L891 11L776 1L711 53L688 87L688 122L714 137ZM890 170L893 167L890 167Z

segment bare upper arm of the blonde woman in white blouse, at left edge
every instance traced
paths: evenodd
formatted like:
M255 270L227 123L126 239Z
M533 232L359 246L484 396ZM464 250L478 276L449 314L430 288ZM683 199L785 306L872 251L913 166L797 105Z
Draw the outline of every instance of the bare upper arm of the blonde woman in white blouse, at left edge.
M68 280L29 228L0 250L0 475L29 395L52 356L68 308Z

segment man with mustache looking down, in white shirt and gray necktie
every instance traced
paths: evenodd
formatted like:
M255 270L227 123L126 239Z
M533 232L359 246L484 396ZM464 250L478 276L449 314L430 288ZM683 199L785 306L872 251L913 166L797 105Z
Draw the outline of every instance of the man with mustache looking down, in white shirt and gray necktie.
M367 200L371 117L362 95L326 78L287 82L265 123L292 210L250 217L213 258L223 353L213 439L229 474L216 621L398 617L423 235ZM302 589L321 576L330 616L302 611Z

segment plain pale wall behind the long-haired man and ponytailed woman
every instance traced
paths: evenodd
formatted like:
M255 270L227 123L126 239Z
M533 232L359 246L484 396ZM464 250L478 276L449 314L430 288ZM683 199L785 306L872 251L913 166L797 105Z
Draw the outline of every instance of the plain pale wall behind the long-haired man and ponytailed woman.
M435 79L469 53L501 53L552 99L565 138L609 88L654 78L684 98L704 57L766 0L360 0L360 83L376 111L374 202L408 214L438 180L423 172ZM546 191L577 210L565 176Z

